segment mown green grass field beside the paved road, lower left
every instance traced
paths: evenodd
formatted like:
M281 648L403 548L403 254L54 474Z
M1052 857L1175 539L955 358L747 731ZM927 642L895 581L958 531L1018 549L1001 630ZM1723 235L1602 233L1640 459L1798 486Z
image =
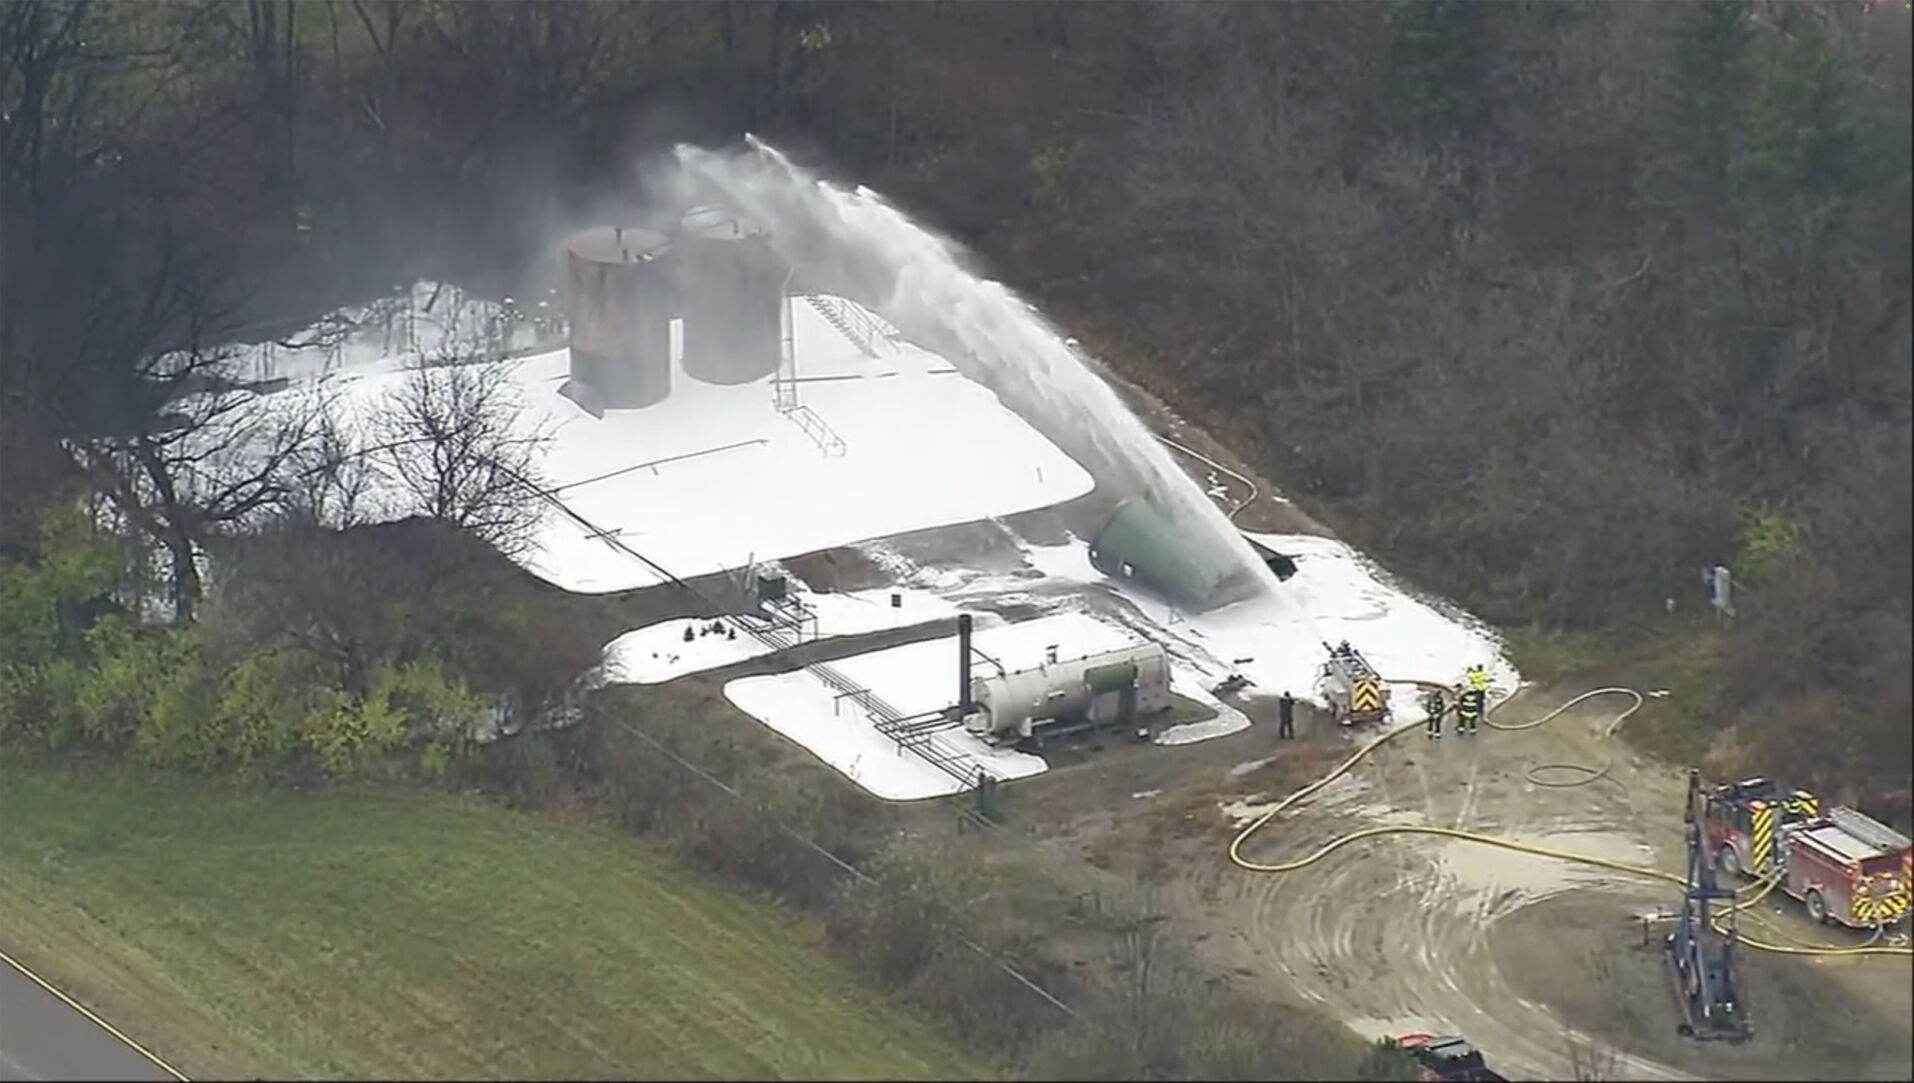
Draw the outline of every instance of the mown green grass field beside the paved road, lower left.
M0 947L188 1075L982 1072L815 941L478 800L0 763Z

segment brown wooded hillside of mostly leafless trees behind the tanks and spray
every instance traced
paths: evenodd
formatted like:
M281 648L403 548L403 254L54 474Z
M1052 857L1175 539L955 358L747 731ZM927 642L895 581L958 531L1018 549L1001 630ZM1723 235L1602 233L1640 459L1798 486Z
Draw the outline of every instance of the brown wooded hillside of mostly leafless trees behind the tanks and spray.
M61 438L157 425L155 350L515 289L645 147L752 130L1493 622L1640 633L1728 563L1717 756L1904 817L1908 42L1851 2L21 0L4 540Z

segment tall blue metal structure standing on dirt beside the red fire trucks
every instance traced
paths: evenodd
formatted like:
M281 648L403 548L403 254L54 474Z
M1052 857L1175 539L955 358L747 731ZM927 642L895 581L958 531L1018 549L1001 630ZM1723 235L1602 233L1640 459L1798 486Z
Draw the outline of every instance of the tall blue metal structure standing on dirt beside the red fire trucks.
M1734 959L1734 890L1715 884L1715 865L1702 832L1703 800L1702 773L1688 771L1688 876L1680 917L1675 918L1675 932L1667 936L1663 951L1682 1010L1677 1031L1696 1041L1740 1043L1753 1037L1753 1026L1742 1005ZM1715 930L1713 903L1728 907L1726 934Z

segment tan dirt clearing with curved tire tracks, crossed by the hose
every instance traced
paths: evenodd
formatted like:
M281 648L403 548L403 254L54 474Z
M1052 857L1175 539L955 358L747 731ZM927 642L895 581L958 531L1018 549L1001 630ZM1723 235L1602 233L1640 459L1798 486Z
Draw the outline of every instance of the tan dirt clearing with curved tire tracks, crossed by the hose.
M1560 698L1524 695L1499 718L1533 718ZM1246 857L1294 859L1370 825L1439 825L1675 871L1679 771L1623 750L1612 783L1524 779L1539 762L1602 763L1610 718L1612 704L1592 700L1543 731L1407 735L1259 832ZM1273 972L1367 1033L1468 1035L1512 1077L1908 1077L1908 1016L1887 993L1891 982L1906 985L1904 959L1836 966L1747 953L1757 1037L1744 1047L1677 1037L1658 949L1667 926L1642 922L1677 899L1654 880L1401 836L1225 884L1210 911L1235 911L1240 926L1210 943L1231 966Z

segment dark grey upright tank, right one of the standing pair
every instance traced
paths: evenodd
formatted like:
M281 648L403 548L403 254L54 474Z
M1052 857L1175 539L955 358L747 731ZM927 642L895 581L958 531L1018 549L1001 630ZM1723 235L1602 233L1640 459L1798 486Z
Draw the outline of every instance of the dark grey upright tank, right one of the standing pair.
M685 375L741 385L775 373L789 268L764 230L725 210L693 210L676 249Z

